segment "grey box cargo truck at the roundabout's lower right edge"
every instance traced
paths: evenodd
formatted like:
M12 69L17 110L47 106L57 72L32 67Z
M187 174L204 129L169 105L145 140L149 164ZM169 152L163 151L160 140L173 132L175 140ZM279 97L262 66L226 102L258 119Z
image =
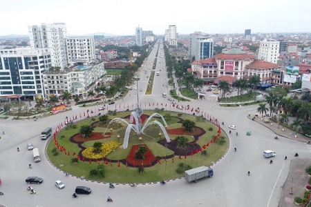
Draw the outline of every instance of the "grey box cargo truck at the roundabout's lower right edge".
M197 182L199 179L203 179L205 177L212 177L213 175L213 169L206 166L200 166L198 168L185 171L185 179L188 183L191 181Z

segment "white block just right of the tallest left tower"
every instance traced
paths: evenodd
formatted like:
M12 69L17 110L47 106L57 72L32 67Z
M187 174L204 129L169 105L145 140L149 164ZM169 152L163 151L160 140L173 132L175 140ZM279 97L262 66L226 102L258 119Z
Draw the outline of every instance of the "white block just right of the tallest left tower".
M65 39L68 63L95 59L94 37L69 37Z

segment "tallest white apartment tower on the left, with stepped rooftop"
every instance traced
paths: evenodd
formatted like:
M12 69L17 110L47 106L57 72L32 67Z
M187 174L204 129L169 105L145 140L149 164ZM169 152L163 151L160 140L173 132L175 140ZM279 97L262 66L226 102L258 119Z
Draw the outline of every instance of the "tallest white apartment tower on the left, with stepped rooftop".
M67 66L64 39L67 35L65 23L42 23L41 26L28 26L31 48L44 48L50 52L53 67Z

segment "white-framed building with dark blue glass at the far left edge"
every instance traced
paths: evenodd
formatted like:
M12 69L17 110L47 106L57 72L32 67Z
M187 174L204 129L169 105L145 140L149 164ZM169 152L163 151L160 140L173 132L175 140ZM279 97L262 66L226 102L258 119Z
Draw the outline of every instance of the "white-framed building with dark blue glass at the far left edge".
M44 96L42 74L51 67L48 49L0 50L0 97L35 100Z

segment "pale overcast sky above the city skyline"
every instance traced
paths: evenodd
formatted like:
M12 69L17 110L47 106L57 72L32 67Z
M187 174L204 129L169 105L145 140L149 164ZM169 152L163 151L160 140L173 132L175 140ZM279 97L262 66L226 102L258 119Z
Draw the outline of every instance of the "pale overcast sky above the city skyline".
M0 35L65 22L68 34L310 32L311 0L0 0Z

